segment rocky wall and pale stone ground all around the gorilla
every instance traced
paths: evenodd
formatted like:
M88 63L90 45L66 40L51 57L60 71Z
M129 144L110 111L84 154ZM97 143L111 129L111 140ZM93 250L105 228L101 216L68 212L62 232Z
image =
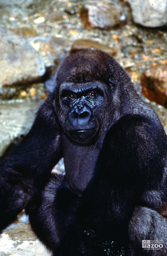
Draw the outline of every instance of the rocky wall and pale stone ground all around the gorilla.
M167 132L167 6L161 0L150 6L145 1L145 12L137 2L0 1L0 159L31 127L38 106L54 87L59 63L85 47L102 49L125 67ZM63 163L55 170L63 171ZM1 255L50 252L24 216L1 235Z

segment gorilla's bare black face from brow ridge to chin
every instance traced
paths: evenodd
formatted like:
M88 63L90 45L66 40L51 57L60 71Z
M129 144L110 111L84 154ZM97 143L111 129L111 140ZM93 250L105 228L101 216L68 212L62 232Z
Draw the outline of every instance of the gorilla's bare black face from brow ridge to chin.
M68 109L65 128L75 142L90 142L99 132L97 110L104 104L101 82L63 83L59 88L60 102Z

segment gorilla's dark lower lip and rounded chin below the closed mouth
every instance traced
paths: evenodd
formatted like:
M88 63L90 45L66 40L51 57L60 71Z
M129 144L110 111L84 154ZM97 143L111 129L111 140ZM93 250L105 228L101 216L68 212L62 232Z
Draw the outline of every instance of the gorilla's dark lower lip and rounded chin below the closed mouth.
M97 129L77 129L77 130L68 130L70 137L77 142L87 142L92 139L96 134Z

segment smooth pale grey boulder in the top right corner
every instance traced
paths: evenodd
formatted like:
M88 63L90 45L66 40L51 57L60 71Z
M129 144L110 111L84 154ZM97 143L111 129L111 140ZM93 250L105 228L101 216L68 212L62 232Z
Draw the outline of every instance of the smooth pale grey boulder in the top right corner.
M167 25L167 1L164 0L127 0L136 23L146 27Z

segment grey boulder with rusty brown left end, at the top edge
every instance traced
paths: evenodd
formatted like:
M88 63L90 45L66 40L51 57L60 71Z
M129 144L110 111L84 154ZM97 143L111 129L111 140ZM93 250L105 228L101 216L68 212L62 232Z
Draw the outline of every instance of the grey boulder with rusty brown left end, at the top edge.
M88 1L80 9L80 18L86 28L108 29L119 25L126 19L118 1Z

